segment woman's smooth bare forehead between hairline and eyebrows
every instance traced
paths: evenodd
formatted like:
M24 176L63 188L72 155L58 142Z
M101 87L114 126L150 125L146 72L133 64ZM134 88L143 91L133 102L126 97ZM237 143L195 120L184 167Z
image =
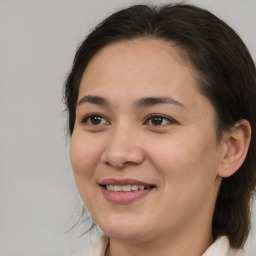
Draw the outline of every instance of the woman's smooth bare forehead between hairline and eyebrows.
M137 93L159 89L187 92L197 90L198 80L186 54L159 39L140 38L113 43L102 48L88 63L80 85L80 93L100 90ZM173 95L174 96L174 95Z

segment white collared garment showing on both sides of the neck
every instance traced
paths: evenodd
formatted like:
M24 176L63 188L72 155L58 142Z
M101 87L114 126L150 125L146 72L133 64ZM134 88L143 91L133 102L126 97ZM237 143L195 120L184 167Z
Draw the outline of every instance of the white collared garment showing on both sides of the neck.
M100 240L94 243L88 249L85 249L73 256L105 256L109 240L102 236ZM244 250L233 249L230 247L226 236L219 237L202 256L246 256Z

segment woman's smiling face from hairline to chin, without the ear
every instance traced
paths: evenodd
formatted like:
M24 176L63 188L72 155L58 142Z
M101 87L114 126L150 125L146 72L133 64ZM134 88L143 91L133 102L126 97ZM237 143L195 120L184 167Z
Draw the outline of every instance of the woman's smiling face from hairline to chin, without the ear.
M112 239L211 232L221 150L215 111L170 43L106 46L79 90L71 163L79 193Z

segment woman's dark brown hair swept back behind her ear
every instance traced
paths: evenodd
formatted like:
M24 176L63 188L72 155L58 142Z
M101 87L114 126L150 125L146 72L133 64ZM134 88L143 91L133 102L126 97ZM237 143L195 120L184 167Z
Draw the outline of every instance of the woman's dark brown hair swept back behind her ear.
M216 111L216 134L246 119L252 128L243 165L224 178L212 220L213 237L226 235L243 247L250 230L250 200L256 186L256 70L240 37L207 10L188 4L134 5L100 23L79 46L64 88L70 135L76 119L79 86L87 64L103 47L139 38L174 43L192 63L198 89Z

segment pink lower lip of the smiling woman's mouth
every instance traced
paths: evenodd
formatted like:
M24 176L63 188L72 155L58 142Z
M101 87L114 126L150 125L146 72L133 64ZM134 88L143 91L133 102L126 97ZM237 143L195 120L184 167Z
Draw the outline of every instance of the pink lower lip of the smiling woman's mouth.
M101 186L101 190L103 192L104 197L111 203L129 204L133 201L136 201L145 197L153 190L153 188L136 190L131 192L113 192Z

